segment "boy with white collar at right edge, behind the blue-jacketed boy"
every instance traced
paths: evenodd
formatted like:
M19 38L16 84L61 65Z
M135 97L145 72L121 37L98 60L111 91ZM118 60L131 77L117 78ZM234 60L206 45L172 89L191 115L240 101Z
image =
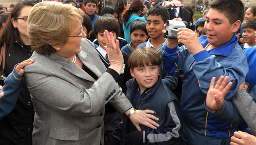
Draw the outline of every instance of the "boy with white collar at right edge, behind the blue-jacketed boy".
M242 49L255 47L256 46L256 37L255 37L255 30L256 30L256 19L246 22L243 26L243 33L242 38L244 41L244 44L241 44L240 46Z

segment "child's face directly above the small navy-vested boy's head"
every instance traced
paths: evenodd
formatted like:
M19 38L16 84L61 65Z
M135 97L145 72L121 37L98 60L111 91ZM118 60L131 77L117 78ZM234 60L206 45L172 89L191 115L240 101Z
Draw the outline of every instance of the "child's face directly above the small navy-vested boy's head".
M136 48L140 43L146 42L147 35L143 30L135 29L130 34L130 38L131 38L131 47Z

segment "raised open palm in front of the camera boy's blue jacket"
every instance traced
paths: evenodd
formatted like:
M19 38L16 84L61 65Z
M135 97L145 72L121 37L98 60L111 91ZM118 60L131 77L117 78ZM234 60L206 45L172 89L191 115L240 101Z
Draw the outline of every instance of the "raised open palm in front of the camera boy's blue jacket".
M229 79L228 76L221 76L218 82L215 84L215 77L211 79L210 87L206 97L206 105L211 111L216 111L220 109L224 103L224 97L228 90L232 86L232 82L227 84Z

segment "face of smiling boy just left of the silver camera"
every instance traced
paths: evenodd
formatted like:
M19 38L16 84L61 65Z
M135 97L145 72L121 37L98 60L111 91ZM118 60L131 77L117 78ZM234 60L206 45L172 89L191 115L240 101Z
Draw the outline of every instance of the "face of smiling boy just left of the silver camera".
M147 33L152 39L157 39L163 37L162 30L164 22L160 15L148 15L147 16Z

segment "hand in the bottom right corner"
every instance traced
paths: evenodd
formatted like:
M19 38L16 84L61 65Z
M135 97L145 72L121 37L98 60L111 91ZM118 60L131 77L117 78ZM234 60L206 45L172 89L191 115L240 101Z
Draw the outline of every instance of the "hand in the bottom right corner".
M242 131L234 132L230 145L256 145L256 137Z

